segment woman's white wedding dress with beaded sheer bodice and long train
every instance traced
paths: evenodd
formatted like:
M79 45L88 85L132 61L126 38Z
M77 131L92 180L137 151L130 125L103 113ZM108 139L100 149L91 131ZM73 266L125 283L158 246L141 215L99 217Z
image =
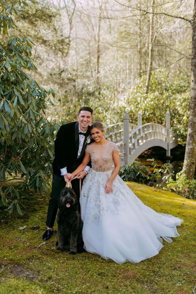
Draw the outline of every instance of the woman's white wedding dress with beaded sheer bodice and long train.
M158 254L162 239L172 242L171 237L179 236L176 226L183 220L146 206L118 175L113 192L105 193L116 151L118 146L113 142L86 147L92 168L80 196L84 248L119 264L126 260L138 263Z

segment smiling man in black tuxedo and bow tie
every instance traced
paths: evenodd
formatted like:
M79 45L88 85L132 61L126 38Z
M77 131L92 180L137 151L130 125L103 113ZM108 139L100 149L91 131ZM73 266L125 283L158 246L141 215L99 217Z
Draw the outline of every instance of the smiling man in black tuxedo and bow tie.
M90 141L90 126L93 110L90 107L82 107L78 113L78 121L67 123L60 127L54 141L54 161L51 198L48 205L46 225L43 240L48 240L53 234L53 225L58 210L58 196L68 183L66 173L72 173L83 161L86 145ZM78 198L78 210L80 211L79 179L83 179L91 167L88 166L78 174L78 178L71 181L72 189ZM82 180L83 182L83 180Z

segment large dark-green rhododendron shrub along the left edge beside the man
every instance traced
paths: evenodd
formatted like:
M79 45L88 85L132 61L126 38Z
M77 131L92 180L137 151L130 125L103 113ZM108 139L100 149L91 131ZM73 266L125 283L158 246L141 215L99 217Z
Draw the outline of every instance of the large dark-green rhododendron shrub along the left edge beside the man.
M45 117L48 102L52 104L48 95L55 96L53 89L46 91L28 74L36 70L32 41L9 38L9 31L16 26L11 15L18 14L14 6L24 4L0 1L0 32L5 39L0 41L0 205L9 212L16 206L20 214L19 199L28 188L40 193L47 189L54 132L59 128Z

